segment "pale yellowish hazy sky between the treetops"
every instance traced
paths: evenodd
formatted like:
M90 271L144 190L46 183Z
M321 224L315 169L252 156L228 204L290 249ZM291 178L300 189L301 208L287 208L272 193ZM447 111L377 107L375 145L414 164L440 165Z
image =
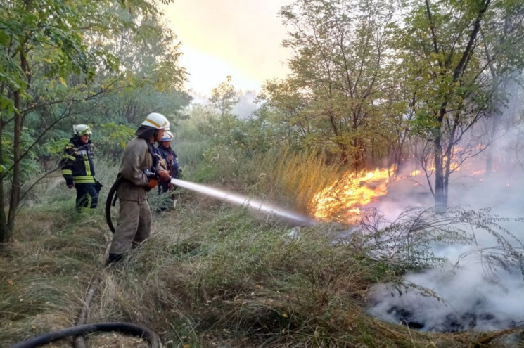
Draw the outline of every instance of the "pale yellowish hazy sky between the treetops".
M189 81L186 89L210 94L231 75L243 91L284 77L290 52L282 47L286 28L278 11L289 0L176 0L165 6L170 27L181 41Z

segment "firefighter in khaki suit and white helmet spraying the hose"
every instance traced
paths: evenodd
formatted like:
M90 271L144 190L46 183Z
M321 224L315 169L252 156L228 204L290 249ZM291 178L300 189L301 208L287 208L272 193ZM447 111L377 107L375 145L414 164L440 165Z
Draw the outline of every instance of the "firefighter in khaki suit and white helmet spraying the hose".
M153 112L136 130L136 137L127 143L118 172L123 178L116 191L120 215L109 249L108 264L122 259L126 252L141 245L151 234L148 191L155 188L158 181L171 179L169 173L160 167L161 157L154 143L160 141L169 126L170 122L164 115Z

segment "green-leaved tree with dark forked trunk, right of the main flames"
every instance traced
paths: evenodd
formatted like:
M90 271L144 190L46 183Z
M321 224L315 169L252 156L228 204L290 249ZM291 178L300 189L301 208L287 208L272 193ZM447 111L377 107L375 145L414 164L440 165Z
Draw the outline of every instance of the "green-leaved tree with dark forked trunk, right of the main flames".
M399 30L399 59L416 85L414 133L429 146L420 158L426 173L434 165L439 212L448 204L450 174L478 153L477 144L467 142L468 131L501 101L487 70L501 60L513 68L524 63L523 16L521 1L426 0L414 5ZM480 32L490 33L484 47Z

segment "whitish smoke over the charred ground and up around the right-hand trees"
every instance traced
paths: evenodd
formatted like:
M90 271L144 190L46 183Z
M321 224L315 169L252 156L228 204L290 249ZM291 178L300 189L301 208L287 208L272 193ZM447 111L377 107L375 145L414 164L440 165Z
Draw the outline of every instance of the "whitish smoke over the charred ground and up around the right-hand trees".
M522 115L521 105L506 120ZM480 153L467 169L452 174L449 205L471 210L490 208L490 214L511 218L500 221L509 234L501 233L516 251L523 253L524 161L522 127L507 122L500 127L492 153ZM486 175L492 155L494 172ZM523 158L524 159L524 158ZM473 174L476 173L476 174ZM481 173L481 174L479 174ZM433 196L422 176L393 181L388 195L373 204L391 221L407 206L430 207ZM371 207L371 205L370 205ZM516 263L504 262L499 240L485 228L471 228L470 244L432 243L435 256L447 263L435 269L404 276L404 285L378 284L369 292L371 316L411 328L430 331L499 330L524 325L524 275Z

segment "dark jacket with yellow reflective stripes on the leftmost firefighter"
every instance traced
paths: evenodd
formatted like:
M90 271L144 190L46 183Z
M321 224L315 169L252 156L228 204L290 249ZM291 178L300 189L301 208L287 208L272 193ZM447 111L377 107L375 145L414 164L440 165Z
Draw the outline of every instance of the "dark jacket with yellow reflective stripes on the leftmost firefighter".
M91 139L87 143L82 143L77 135L70 138L68 145L64 148L60 167L65 183L68 185L96 183Z

